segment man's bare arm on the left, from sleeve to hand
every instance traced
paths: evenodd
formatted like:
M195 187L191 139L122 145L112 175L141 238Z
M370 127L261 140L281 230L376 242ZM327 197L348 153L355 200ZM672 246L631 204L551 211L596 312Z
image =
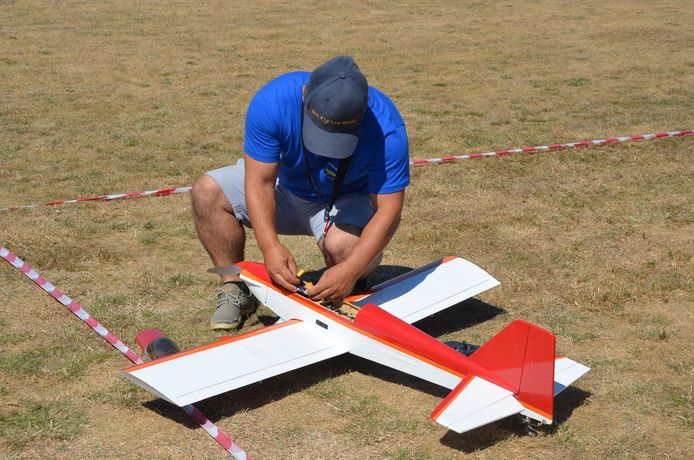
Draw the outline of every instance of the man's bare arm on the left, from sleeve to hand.
M263 163L247 154L244 154L244 161L246 205L258 246L263 252L265 267L277 284L295 291L299 284L296 262L277 238L275 226L275 183L279 164Z

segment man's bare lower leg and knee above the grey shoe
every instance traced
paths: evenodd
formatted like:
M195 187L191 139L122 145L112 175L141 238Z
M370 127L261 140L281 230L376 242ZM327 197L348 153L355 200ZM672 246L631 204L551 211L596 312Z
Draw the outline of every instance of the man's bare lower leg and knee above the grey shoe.
M246 232L236 219L222 188L210 176L202 176L190 191L198 238L215 267L243 260ZM238 275L221 275L222 281L241 281Z

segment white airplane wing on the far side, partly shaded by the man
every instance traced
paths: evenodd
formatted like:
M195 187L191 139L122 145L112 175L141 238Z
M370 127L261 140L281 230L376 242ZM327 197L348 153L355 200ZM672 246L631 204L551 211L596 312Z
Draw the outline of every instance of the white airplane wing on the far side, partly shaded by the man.
M378 305L412 324L498 285L472 262L446 257L376 285L371 294L347 300L360 307Z

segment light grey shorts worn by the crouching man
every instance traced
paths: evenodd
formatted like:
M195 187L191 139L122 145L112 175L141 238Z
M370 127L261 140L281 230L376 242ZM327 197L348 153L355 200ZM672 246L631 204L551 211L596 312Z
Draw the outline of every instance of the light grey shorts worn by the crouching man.
M222 188L234 209L236 218L248 228L246 197L243 191L244 162L240 159L234 166L225 166L206 174ZM275 187L276 216L275 226L281 235L313 235L318 241L323 234L325 222L323 214L327 203L307 201L292 194L278 182ZM351 193L341 196L335 202L330 216L335 225L352 224L364 228L373 216L373 205L369 195Z

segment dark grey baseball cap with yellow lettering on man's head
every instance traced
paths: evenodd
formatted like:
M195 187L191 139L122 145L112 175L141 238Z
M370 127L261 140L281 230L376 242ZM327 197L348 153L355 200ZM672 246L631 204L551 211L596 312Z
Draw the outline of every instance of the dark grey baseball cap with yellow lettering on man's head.
M368 103L369 85L354 59L337 56L320 65L304 93L304 146L329 158L352 155Z

